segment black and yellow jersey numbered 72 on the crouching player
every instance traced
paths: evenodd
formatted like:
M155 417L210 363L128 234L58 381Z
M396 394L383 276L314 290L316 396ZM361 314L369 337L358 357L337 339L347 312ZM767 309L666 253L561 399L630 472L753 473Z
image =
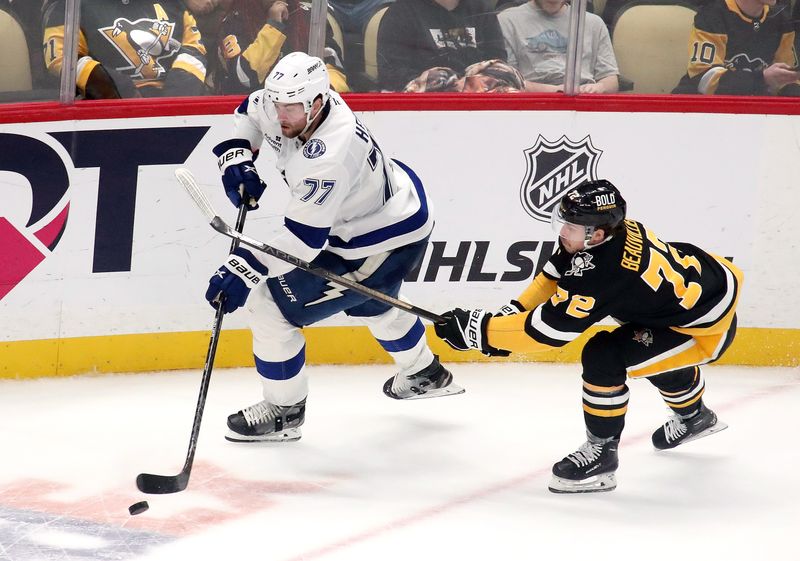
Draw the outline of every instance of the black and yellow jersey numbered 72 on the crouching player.
M742 282L730 261L691 244L665 243L633 220L625 221L623 235L600 245L575 254L557 250L541 274L553 281L552 296L524 314L491 318L493 347L560 347L607 317L692 336L722 333Z

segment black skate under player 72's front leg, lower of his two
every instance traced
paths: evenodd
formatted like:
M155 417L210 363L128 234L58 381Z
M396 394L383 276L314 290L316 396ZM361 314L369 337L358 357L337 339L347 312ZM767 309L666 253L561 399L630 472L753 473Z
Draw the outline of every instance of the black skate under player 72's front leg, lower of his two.
M590 434L577 451L553 466L549 489L553 493L596 493L617 487L619 439L599 439Z

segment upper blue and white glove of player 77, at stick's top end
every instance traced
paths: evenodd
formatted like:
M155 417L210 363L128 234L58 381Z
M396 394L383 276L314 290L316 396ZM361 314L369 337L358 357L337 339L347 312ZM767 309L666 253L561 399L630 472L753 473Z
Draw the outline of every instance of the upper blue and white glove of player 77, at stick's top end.
M214 146L217 165L222 172L222 184L225 194L239 208L242 200L247 201L250 209L258 208L258 199L267 188L261 181L253 164L253 152L250 143L242 138L232 138Z

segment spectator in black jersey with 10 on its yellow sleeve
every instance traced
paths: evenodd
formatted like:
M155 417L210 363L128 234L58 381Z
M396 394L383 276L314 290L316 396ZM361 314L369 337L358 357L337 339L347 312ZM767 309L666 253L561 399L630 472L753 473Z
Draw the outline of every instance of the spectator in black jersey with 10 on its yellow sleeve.
M715 0L694 19L686 75L673 93L800 95L786 4Z

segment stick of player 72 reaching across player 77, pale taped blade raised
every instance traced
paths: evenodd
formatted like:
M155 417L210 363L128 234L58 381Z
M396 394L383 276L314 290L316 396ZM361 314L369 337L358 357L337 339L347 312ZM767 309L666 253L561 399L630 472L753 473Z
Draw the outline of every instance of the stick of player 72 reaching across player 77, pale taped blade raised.
M181 175L178 175L181 173ZM408 312L410 314L414 314L415 316L419 316L421 318L427 319L432 321L433 323L446 323L447 320L444 319L442 316L438 314L434 314L433 312L429 312L428 310L419 308L414 306L413 304L409 304L408 302L403 302L397 298L389 296L388 294L384 294L383 292L378 292L372 288L364 286L363 284L359 284L353 280L350 280L346 277L342 277L337 275L334 272L328 271L327 269L323 269L322 267L317 267L316 265L312 265L307 261L303 261L299 257L295 257L294 255L289 255L288 253L281 251L280 249L274 248L270 245L265 244L264 242L260 242L256 239L249 238L243 235L241 232L237 232L230 226L228 226L225 221L220 218L217 213L214 211L214 207L211 206L211 201L208 200L205 193L200 190L200 186L192 177L191 172L184 169L179 169L175 172L178 175L178 179L181 182L181 185L184 186L186 191L192 197L197 207L206 215L206 218L211 224L211 227L214 228L220 234L224 234L229 238L233 238L234 240L238 240L242 244L246 246L250 246L254 249L262 251L267 255L272 255L280 259L281 261L286 261L297 267L298 269L302 269L315 275L317 277L323 278L325 280L329 280L344 286L345 288L349 288L353 292L357 292L362 294L363 296L367 296L372 298L373 300L377 300L379 302L383 302L384 304L388 304L394 308L399 308L404 312Z

